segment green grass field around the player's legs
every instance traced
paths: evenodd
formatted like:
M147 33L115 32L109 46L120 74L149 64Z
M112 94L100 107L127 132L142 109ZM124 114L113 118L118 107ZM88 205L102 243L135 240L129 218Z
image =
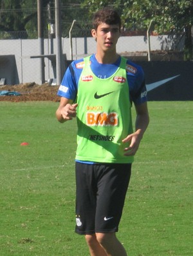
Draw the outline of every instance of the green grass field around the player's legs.
M58 123L57 106L0 103L1 256L89 255L74 233L76 122ZM149 112L118 238L129 256L192 256L193 102Z

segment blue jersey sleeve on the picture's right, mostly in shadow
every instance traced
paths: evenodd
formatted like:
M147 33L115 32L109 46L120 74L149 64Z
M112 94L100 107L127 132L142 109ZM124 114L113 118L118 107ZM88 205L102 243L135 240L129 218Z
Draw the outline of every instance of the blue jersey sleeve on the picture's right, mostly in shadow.
M127 61L127 80L133 103L136 105L145 103L147 101L147 89L142 67Z

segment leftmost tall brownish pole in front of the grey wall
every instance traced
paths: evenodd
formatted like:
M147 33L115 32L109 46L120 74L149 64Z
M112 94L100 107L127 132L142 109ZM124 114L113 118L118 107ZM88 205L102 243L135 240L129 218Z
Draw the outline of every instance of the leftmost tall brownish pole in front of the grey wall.
M37 30L38 30L38 40L40 55L44 55L44 19L42 15L42 1L37 0ZM45 70L44 70L44 57L40 58L41 62L41 83L45 83Z

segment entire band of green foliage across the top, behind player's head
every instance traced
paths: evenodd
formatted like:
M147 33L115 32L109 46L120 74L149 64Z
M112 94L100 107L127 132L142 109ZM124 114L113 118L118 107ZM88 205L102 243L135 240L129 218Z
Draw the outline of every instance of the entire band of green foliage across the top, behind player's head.
M42 1L45 37L48 36L50 23L48 4L51 6L51 22L55 23L54 1ZM154 30L158 34L185 34L185 60L192 59L192 0L61 0L62 37L68 36L74 19L77 23L73 36L90 36L87 31L90 29L91 15L104 6L113 6L118 10L127 30L146 31L153 20ZM37 1L0 0L0 8L1 32L25 31L24 38L37 36ZM19 38L22 37L19 35Z

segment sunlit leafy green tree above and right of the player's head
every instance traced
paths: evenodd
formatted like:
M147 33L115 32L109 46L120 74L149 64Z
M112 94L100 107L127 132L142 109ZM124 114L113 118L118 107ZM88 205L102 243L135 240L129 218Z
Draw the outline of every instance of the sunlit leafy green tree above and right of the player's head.
M118 7L125 28L130 30L147 30L151 20L159 33L185 33L184 59L191 60L193 53L192 0L84 0L82 6L89 6L89 13L104 6Z

